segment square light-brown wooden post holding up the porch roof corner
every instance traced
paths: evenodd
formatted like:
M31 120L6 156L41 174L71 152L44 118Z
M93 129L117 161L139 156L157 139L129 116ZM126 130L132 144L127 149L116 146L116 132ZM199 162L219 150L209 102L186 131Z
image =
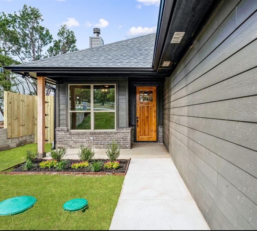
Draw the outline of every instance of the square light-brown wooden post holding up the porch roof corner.
M45 153L45 77L38 77L38 157Z

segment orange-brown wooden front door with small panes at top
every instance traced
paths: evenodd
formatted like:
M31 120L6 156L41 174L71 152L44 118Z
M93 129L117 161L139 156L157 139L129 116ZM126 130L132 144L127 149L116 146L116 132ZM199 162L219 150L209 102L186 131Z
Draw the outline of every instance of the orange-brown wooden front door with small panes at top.
M156 141L156 87L137 87L137 141Z

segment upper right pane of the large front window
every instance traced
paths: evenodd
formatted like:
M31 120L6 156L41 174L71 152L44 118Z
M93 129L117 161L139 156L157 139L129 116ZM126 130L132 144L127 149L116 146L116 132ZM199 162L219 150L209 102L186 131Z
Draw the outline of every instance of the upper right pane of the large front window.
M94 85L94 110L115 110L115 85Z

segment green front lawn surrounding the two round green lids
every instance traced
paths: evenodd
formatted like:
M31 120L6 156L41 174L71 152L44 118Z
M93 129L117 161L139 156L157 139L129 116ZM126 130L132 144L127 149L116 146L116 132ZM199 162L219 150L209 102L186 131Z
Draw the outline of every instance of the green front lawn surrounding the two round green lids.
M0 216L0 229L109 229L122 188L123 176L0 174L0 201L29 195L36 204L14 216ZM88 200L85 212L63 211L74 198Z

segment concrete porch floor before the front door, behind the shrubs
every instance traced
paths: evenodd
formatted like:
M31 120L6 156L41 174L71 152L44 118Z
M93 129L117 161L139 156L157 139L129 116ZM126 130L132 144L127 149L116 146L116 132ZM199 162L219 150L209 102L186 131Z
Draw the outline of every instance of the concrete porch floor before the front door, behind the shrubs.
M106 149L94 149L96 159L107 159ZM78 159L79 149L67 149L67 159ZM50 152L44 159L51 159ZM162 143L134 143L131 149L121 149L119 159L128 158L168 158L169 154Z

